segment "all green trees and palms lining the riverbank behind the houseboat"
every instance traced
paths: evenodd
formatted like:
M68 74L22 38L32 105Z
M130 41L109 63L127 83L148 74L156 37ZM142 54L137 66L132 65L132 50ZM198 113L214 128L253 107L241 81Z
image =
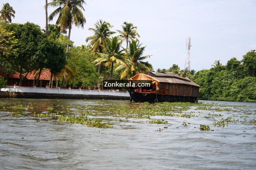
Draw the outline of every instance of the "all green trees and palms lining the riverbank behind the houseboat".
M70 2L70 3L69 3ZM46 2L45 28L33 23L15 24L10 4L4 4L0 24L0 69L7 74L20 73L19 85L34 71L36 85L42 70L49 69L63 88L97 89L102 80L129 79L147 71L170 72L188 77L201 86L199 99L227 101L256 101L256 52L244 54L242 60L232 58L227 65L216 60L211 69L180 70L173 64L169 69L156 69L146 61L146 46L139 41L137 26L124 22L121 29L102 19L89 28L91 36L84 37L84 44L75 46L70 39L72 26L84 27L84 0ZM49 15L47 8L54 8ZM56 22L55 22L56 19ZM49 24L48 20L55 24ZM123 47L124 46L124 47ZM157 56L157 54L155 54ZM23 73L25 76L23 76ZM58 84L49 81L49 87ZM0 87L6 81L0 78Z

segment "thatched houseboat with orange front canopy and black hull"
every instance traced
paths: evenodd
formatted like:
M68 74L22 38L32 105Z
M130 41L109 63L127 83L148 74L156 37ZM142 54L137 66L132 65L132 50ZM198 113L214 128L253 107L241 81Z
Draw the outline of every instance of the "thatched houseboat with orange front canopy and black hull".
M188 77L172 73L137 74L132 82L151 82L151 87L130 89L130 100L135 102L198 102L200 86Z

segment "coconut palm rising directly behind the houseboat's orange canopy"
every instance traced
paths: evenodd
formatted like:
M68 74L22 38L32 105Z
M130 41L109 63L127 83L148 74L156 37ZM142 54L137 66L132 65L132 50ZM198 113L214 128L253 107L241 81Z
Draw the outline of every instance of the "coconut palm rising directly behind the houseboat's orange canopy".
M149 68L152 67L152 65L143 61L150 57L150 55L142 56L145 48L146 46L142 46L138 40L129 41L129 49L125 54L125 61L127 64L116 67L116 70L124 69L121 73L121 79L128 76L134 76L138 73L145 73L150 70Z

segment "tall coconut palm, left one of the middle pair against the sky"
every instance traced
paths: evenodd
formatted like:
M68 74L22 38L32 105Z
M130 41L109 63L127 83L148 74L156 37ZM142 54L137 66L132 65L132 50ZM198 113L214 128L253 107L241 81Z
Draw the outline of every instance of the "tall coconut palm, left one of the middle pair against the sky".
M109 37L116 32L110 31L110 28L112 28L113 26L106 21L102 21L101 19L97 21L94 25L95 28L89 28L90 31L94 32L94 35L87 37L85 41L90 41L89 44L92 45L92 52L95 53L98 51L99 53L102 53L103 47L106 46L106 37ZM101 64L99 64L98 67L98 73L100 73L100 65Z

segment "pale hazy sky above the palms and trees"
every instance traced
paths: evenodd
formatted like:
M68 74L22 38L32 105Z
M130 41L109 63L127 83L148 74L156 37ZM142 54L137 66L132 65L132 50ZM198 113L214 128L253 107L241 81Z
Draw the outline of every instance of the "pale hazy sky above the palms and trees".
M51 0L48 0L50 2ZM16 11L13 23L33 22L45 27L45 0L0 0ZM84 29L72 28L76 46L93 33L88 30L103 19L121 30L124 21L137 26L144 55L154 69L178 64L184 69L186 38L191 38L191 69L209 69L215 60L225 65L256 49L255 0L85 0ZM48 9L48 15L54 8ZM51 21L55 24L57 18ZM114 35L118 35L117 33ZM125 47L125 44L123 45Z

